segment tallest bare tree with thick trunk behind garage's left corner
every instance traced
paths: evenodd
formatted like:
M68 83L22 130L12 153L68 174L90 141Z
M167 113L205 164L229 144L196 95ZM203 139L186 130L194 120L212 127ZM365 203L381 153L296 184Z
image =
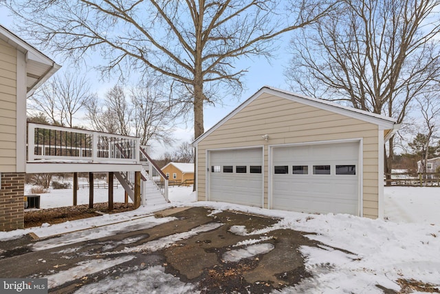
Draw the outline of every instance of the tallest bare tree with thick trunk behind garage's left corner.
M274 39L304 28L336 0L11 0L19 30L52 52L78 59L99 50L101 69L153 70L173 80L182 107L192 109L195 138L203 134L203 103L243 87L241 57L270 57ZM219 90L223 93L219 94Z

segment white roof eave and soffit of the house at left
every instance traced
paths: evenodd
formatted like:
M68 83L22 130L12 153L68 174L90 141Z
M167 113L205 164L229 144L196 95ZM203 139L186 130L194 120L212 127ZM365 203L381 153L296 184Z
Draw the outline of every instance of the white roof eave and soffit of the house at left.
M36 50L32 45L23 41L16 34L0 25L0 39L8 43L19 52L25 54L26 59L26 93L31 96L34 91L61 68L47 57Z

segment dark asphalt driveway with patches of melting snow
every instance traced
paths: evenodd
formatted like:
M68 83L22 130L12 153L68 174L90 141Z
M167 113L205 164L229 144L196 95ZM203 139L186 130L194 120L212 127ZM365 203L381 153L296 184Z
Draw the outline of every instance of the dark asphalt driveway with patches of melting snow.
M103 238L81 240L67 233L0 242L0 277L46 277L53 293L136 293L130 285L112 291L102 285L159 268L190 285L188 293L270 293L310 277L298 248L320 246L305 237L309 233L267 232L278 220L247 213L191 207L152 218L157 224L146 229L137 222ZM142 280L136 276L133 285ZM146 286L160 293L166 281L152 281Z

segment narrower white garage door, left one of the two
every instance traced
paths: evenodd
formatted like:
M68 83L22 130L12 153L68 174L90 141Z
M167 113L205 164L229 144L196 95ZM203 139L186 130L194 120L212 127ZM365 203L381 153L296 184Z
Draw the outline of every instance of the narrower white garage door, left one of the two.
M211 201L262 206L262 148L210 151L209 162Z

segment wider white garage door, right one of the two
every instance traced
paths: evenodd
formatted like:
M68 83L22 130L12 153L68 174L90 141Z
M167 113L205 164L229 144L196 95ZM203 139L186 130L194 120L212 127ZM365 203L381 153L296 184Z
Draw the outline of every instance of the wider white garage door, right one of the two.
M359 215L359 143L274 147L272 208Z

